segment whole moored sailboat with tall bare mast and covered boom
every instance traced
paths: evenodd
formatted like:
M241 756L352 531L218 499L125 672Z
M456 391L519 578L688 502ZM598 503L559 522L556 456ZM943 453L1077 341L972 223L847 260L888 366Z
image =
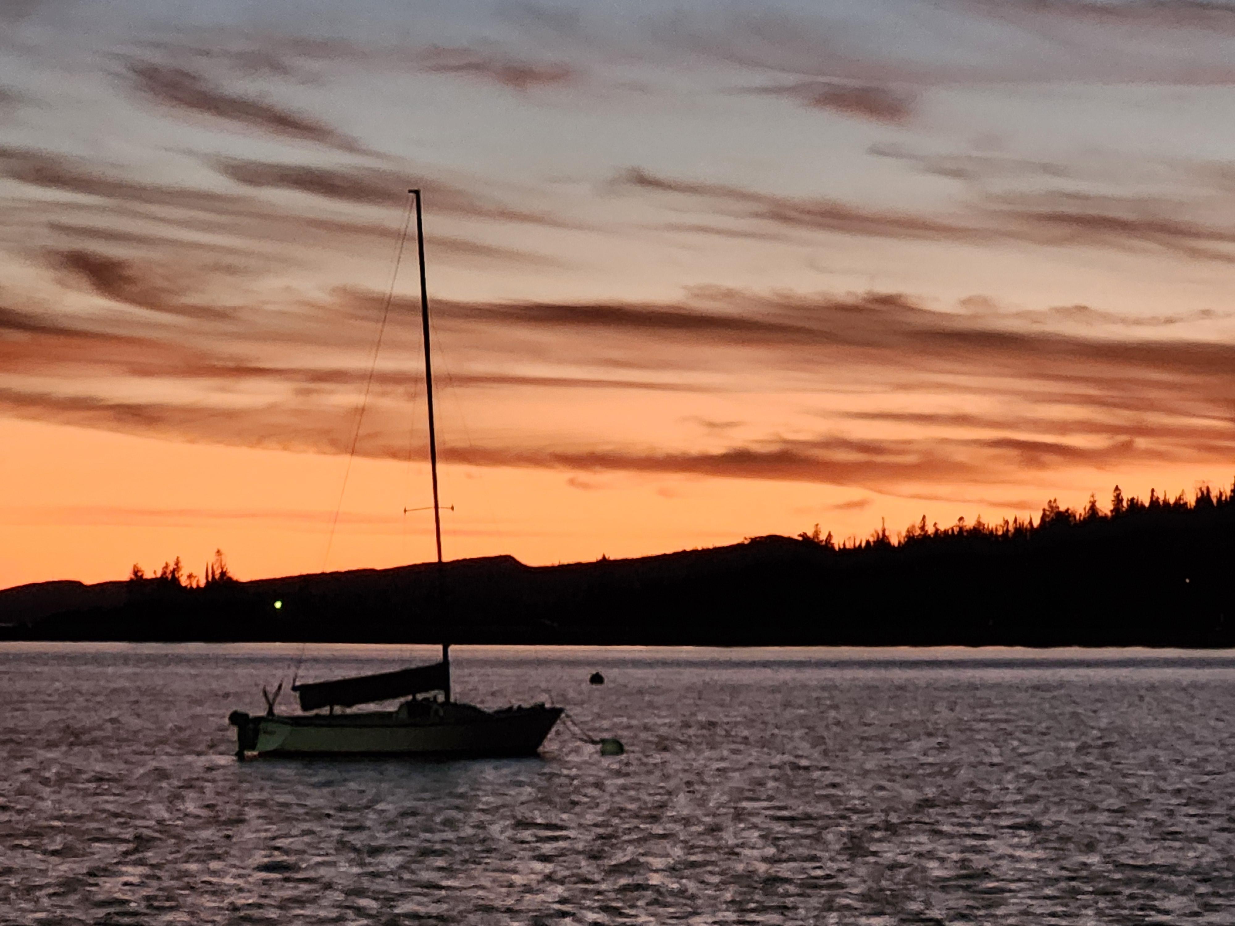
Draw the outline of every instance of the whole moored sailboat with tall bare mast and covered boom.
M416 249L420 258L420 319L425 342L425 394L429 404L429 464L433 488L433 532L437 565L442 564L442 517L437 496L437 433L433 426L433 372L429 344L429 289L425 283L425 233L420 190L415 198ZM404 226L406 228L406 226ZM406 232L405 232L406 233ZM441 574L438 572L438 580ZM438 603L441 603L438 591ZM282 685L280 685L282 686ZM232 711L236 757L249 756L419 756L488 758L532 756L540 751L561 707L534 704L484 710L451 698L450 643L442 643L441 662L373 675L296 684L300 715L275 714L267 696L267 711L251 716ZM263 689L263 695L266 691ZM432 695L425 698L425 695ZM400 700L395 710L343 712L357 705ZM320 711L326 709L326 714ZM336 710L338 709L338 710Z

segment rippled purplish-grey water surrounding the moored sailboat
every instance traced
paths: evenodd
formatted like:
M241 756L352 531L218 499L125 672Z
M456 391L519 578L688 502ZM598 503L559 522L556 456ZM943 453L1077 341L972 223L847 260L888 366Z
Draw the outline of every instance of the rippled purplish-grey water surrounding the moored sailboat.
M1230 653L459 647L629 752L237 763L298 649L0 646L2 921L1235 921Z

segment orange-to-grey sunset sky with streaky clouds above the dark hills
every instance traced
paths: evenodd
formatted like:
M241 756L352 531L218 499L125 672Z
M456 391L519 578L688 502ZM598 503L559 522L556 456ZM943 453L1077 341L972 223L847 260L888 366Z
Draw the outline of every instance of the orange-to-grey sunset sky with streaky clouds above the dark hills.
M1233 84L1216 0L6 0L0 588L431 559L410 186L447 558L1228 486Z

